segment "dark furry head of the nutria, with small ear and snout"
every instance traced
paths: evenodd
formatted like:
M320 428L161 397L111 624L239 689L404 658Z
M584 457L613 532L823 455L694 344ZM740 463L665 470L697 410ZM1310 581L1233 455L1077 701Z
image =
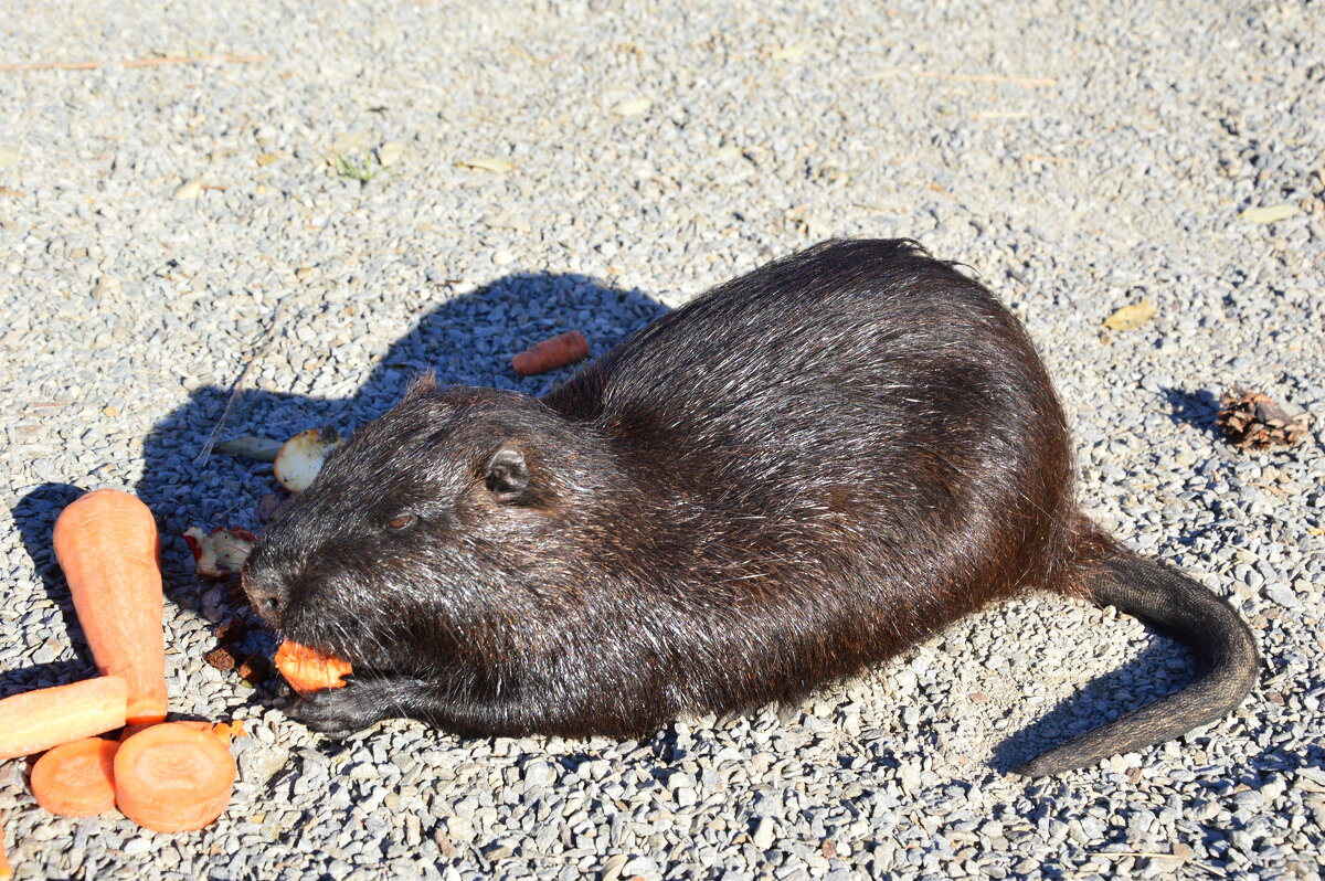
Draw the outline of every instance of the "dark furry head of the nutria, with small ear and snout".
M574 558L591 448L535 399L425 376L290 499L244 588L285 637L356 669L490 657Z

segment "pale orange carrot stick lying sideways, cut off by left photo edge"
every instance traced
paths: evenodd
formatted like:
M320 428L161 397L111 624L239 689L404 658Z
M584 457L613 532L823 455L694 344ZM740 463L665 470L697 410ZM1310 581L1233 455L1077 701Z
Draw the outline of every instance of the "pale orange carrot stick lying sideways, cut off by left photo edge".
M0 701L0 759L118 729L125 723L127 702L129 685L121 676L7 697Z

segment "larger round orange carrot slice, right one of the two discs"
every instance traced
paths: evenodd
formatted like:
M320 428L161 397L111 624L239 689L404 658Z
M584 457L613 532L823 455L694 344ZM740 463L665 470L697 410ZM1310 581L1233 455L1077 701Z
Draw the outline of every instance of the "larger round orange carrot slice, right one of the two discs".
M225 809L235 756L220 738L164 722L132 735L115 755L115 804L155 832L201 829Z

